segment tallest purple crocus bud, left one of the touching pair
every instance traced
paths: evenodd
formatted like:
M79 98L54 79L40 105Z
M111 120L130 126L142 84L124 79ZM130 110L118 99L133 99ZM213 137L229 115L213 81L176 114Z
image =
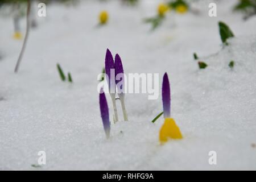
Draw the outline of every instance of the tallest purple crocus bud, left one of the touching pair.
M105 57L105 73L107 77L107 81L109 84L110 93L115 93L115 74L113 74L115 70L114 60L112 53L107 49L106 57Z

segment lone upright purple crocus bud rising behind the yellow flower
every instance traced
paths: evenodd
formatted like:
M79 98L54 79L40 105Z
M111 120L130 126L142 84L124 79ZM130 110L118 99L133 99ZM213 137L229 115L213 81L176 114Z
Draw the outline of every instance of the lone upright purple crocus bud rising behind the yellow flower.
M164 118L171 117L171 90L167 73L164 73L162 85L162 100Z

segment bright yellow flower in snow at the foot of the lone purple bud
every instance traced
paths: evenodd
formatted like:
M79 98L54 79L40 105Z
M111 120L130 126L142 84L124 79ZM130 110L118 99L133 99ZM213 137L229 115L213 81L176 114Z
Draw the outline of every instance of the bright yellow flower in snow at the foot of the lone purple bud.
M159 132L160 143L167 142L169 139L182 139L182 134L174 119L166 118Z

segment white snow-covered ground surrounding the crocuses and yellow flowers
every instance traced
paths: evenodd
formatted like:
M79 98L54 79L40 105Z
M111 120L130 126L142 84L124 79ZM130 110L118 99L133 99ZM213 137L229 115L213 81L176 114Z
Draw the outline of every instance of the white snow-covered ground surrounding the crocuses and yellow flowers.
M232 13L237 1L229 0L216 1L217 17L210 18L212 1L199 1L193 4L199 15L170 13L151 32L142 20L155 15L159 2L47 7L18 74L22 41L11 37L12 19L0 17L0 169L256 169L256 17L243 21ZM101 10L110 19L99 28ZM219 20L236 35L225 48ZM172 117L184 139L159 144L163 118L151 120L162 111L162 97L148 100L147 94L127 94L129 122L112 123L106 139L97 92L106 48L119 53L126 73L159 73L159 84L168 73ZM193 52L207 69L199 70ZM72 73L73 84L60 81L56 63ZM118 102L122 119L120 108ZM47 164L32 167L42 150ZM209 151L217 152L217 165L209 165Z

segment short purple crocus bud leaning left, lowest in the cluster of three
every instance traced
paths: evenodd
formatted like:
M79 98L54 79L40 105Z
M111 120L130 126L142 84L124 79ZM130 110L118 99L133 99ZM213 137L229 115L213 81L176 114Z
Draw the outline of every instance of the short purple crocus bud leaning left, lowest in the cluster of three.
M109 107L108 102L106 101L106 96L101 88L100 92L100 110L101 110L101 118L105 130L106 137L109 138L110 136L110 121L109 121Z

